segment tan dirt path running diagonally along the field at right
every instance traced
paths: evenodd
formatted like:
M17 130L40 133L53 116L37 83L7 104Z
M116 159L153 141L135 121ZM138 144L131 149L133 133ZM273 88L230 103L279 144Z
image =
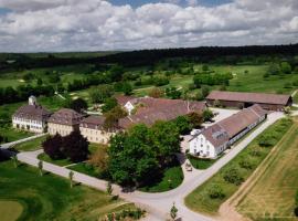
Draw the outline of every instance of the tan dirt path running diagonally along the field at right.
M297 119L294 119L297 122ZM287 133L291 133L297 129L294 124ZM260 176L268 169L270 164L276 157L278 157L279 146L287 138L284 136L279 143L272 149L270 154L263 160L263 162L257 167L253 175L242 185L242 187L228 199L226 200L219 210L219 221L251 221L249 218L243 217L236 211L237 204L244 199L244 197L249 192L249 190L255 186Z

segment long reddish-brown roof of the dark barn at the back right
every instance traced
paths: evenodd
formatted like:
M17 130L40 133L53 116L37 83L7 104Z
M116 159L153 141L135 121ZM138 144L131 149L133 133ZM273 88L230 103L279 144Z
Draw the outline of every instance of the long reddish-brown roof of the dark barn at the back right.
M287 105L290 95L212 91L206 99Z

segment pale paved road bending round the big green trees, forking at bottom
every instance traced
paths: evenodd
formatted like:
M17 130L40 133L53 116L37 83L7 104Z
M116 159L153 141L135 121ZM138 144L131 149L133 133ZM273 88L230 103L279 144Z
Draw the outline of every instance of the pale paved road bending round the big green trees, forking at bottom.
M185 221L209 221L212 220L200 213L195 213L189 210L184 206L184 198L193 191L198 186L201 186L213 175L215 175L224 165L226 165L231 159L233 159L238 152L241 152L256 136L264 131L268 126L275 123L277 119L284 117L283 113L272 113L268 115L268 119L257 127L252 134L244 138L238 145L236 145L232 150L219 159L212 167L206 170L193 170L192 172L185 172L185 179L182 185L174 190L162 192L162 193L145 193L140 191L134 192L123 192L121 188L118 186L114 187L114 194L119 194L119 197L135 202L137 206L145 208L149 212L147 220L164 220L168 217L168 211L170 210L173 202L179 210L179 217L181 220ZM18 154L18 159L25 164L38 166L39 160L36 159L38 152L20 152ZM44 170L52 173L68 177L70 170L67 168L58 167L49 162L44 162ZM74 180L82 182L86 186L105 190L106 181L99 180L79 172L74 171Z

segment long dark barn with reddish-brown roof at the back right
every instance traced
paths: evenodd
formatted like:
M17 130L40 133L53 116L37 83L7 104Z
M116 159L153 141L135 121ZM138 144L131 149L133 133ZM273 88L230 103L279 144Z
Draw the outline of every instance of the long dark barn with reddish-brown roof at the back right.
M291 106L292 98L290 95L281 94L213 91L206 97L206 104L214 106L215 103L221 106L237 108L246 108L258 104L264 109L281 112L286 106Z

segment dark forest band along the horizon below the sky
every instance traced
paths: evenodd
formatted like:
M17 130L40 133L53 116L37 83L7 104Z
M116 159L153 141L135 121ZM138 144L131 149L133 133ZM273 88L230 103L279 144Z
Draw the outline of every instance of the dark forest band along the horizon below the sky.
M104 55L96 52L70 53L68 56L58 56L55 53L32 54L0 54L0 72L20 71L34 67L51 67L71 64L96 64L105 66L117 63L123 66L152 65L166 59L187 59L195 62L213 62L234 64L256 57L292 56L298 53L298 44L288 45L253 45L253 46L201 46L188 49L156 49L130 52L115 52ZM42 54L42 55L41 55ZM265 57L264 57L265 56ZM257 62L257 61L255 61Z

